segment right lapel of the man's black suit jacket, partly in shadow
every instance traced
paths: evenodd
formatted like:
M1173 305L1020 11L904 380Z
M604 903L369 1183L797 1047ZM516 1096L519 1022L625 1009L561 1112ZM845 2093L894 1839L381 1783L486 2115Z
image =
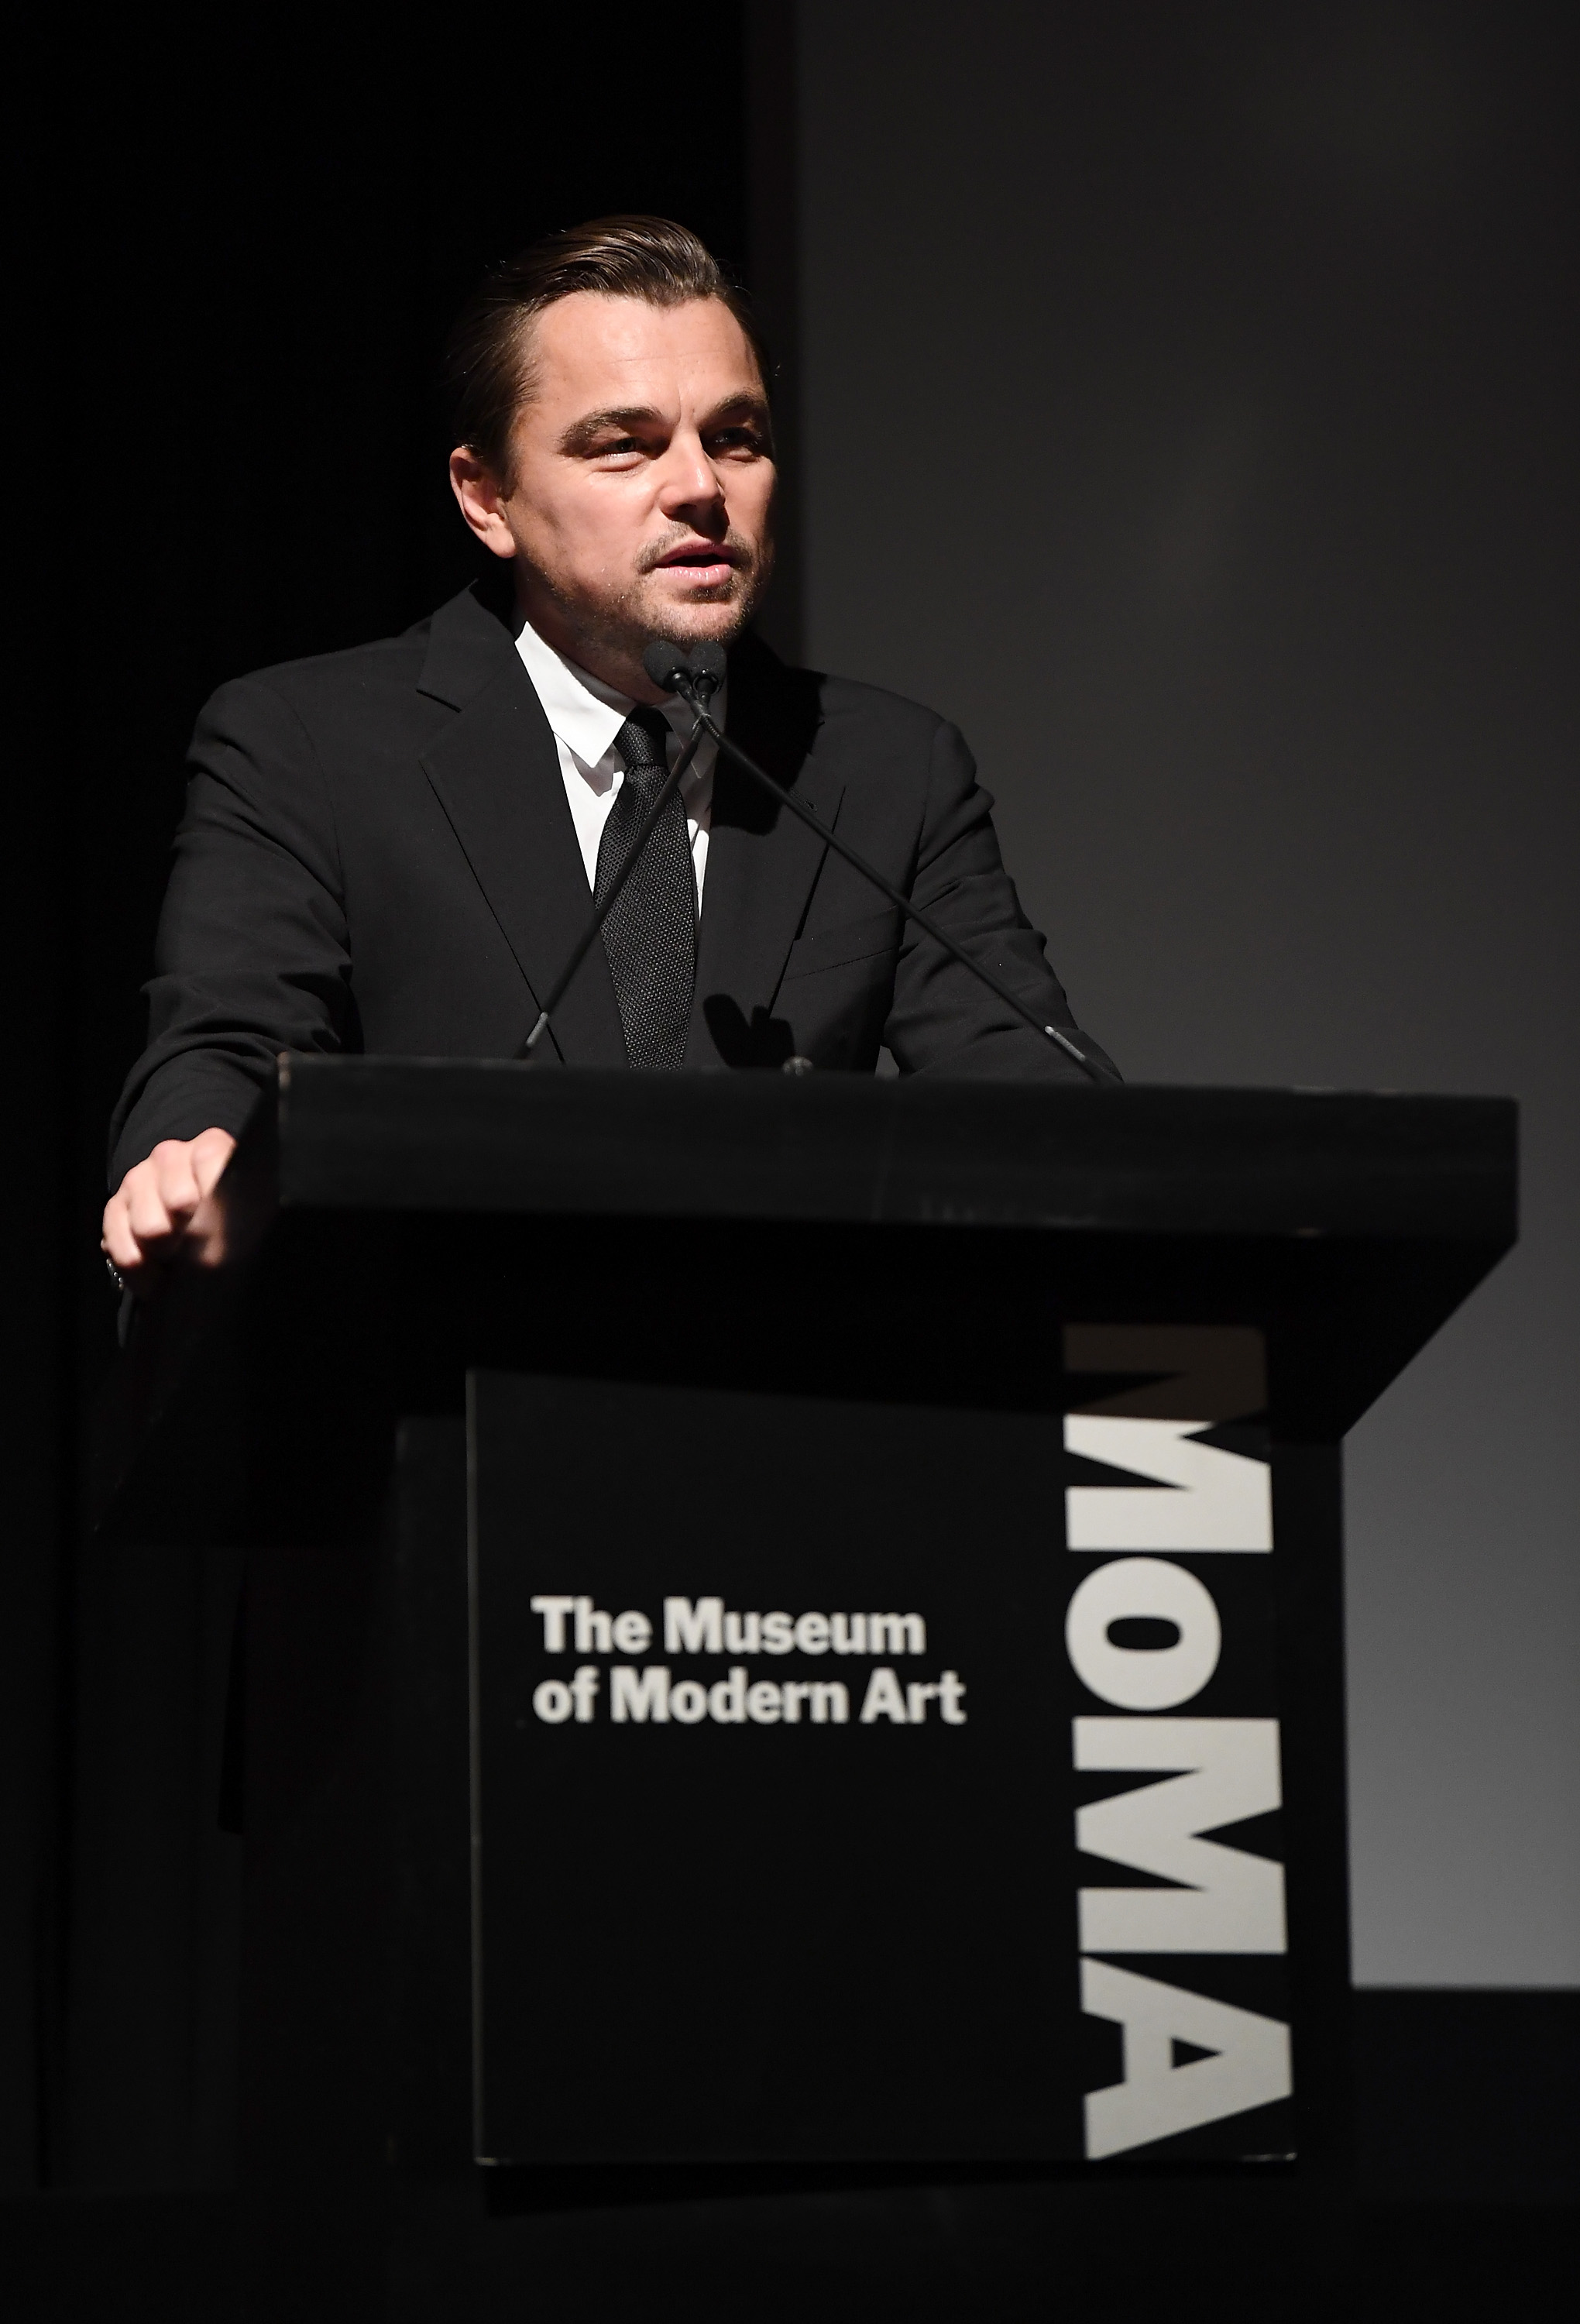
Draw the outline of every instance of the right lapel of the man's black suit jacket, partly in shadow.
M818 686L785 669L757 639L730 655L727 732L825 823L839 816L843 779L816 758ZM788 809L720 753L713 774L709 869L702 888L697 997L688 1064L720 1064L720 1011L751 1027L767 1011L827 848Z

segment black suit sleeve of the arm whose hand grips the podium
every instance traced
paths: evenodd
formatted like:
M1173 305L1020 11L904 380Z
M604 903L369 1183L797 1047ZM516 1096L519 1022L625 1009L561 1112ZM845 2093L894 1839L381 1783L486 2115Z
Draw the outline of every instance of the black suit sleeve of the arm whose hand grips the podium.
M160 1139L239 1136L283 1048L356 1046L335 816L314 744L260 679L193 734L158 923L149 1046L109 1129L109 1185Z

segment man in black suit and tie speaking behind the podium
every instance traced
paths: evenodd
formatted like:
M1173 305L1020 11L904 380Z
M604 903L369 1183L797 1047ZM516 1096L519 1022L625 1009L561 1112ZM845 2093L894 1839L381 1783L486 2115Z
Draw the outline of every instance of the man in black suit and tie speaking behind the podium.
M690 730L641 667L653 639L727 646L727 732L1073 1030L957 730L746 632L774 558L767 363L706 249L662 218L555 235L474 297L451 374L455 500L514 586L202 711L112 1129L105 1250L135 1287L184 1239L202 1255L281 1050L520 1055ZM544 1060L869 1074L881 1046L902 1074L1078 1076L702 748Z

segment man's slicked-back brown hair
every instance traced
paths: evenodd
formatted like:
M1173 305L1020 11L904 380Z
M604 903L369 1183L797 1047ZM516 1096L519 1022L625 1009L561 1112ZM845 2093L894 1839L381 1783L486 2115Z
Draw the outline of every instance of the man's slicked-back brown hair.
M511 486L511 430L532 395L532 316L576 290L683 307L716 297L730 309L769 388L769 353L746 293L713 253L674 218L588 218L544 235L516 258L490 267L455 318L444 356L453 437L500 483Z

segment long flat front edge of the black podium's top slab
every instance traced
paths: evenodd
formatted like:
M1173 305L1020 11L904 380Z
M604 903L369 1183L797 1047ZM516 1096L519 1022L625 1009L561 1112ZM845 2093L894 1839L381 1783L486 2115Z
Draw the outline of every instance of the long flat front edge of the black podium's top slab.
M281 1211L1515 1241L1501 1097L290 1057Z

